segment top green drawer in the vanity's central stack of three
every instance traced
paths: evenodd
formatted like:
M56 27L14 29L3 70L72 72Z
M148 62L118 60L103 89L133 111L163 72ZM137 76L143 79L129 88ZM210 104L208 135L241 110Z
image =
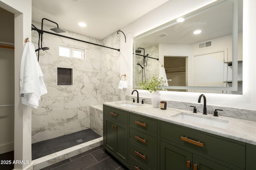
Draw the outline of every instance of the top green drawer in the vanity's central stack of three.
M130 114L130 125L157 135L157 121L155 120Z

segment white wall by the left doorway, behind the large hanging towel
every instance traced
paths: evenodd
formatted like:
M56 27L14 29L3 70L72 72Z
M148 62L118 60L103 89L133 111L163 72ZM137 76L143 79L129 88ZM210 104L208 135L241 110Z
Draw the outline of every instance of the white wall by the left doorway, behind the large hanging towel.
M28 160L15 164L15 170L32 170L31 109L20 102L20 61L24 40L31 39L31 0L1 0L0 7L14 14L14 160Z

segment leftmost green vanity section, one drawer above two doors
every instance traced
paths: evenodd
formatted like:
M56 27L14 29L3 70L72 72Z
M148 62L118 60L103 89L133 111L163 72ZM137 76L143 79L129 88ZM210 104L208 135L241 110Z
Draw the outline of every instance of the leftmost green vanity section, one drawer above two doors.
M128 121L127 116L128 113L124 111L104 107L103 150L113 154L126 166L128 166L128 125L124 122Z

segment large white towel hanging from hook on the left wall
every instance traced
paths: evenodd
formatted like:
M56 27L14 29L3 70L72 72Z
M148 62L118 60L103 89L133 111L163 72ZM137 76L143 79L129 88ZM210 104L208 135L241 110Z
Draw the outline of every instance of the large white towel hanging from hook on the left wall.
M33 43L25 43L20 63L21 103L37 109L40 97L47 93L43 73L37 61Z

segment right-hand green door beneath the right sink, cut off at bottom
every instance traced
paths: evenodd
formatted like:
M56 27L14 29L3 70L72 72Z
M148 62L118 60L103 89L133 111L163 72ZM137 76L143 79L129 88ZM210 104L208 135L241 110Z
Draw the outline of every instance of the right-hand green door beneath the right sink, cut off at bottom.
M210 160L193 155L193 170L231 170Z

